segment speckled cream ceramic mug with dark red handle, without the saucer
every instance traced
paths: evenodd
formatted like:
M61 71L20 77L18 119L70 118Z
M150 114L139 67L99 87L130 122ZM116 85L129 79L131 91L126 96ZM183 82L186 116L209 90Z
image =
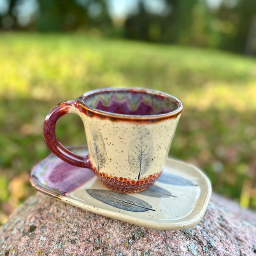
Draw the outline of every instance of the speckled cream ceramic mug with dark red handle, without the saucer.
M44 122L44 137L55 155L91 169L111 190L141 192L163 170L182 109L179 99L154 90L94 90L52 109ZM56 122L68 113L79 115L84 123L87 156L73 153L56 137Z

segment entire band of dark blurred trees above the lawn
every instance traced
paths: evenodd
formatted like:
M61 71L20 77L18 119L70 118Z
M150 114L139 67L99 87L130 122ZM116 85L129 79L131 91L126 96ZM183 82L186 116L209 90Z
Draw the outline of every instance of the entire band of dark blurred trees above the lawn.
M162 8L148 8L137 0L138 12L125 19L116 34L110 0L2 0L2 30L43 32L98 29L104 35L157 43L176 43L256 53L256 0L159 0ZM136 2L134 2L136 4ZM159 10L161 10L159 12Z

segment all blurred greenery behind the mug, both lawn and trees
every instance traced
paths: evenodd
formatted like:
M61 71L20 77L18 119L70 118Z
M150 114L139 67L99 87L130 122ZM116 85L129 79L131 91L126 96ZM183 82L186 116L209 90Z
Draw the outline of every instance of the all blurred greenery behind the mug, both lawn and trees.
M35 193L28 175L49 154L49 110L108 86L180 98L170 157L205 171L215 192L256 208L243 189L256 183L255 1L210 8L173 0L158 13L140 1L126 17L111 16L109 1L37 1L26 25L13 11L22 2L9 1L0 17L0 223ZM57 134L66 146L86 143L75 115L58 121Z

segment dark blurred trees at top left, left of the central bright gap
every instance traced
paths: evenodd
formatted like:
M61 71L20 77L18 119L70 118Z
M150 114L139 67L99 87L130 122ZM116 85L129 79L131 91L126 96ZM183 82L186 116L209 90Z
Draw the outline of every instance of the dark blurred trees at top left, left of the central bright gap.
M22 24L18 18L25 4L32 8L34 19ZM111 19L104 0L10 0L8 11L0 16L4 30L56 32L106 26L111 26Z

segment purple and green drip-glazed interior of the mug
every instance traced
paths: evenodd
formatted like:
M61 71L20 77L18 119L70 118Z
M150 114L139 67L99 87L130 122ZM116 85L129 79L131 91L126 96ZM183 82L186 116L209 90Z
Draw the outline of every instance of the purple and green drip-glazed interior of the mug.
M167 114L182 106L171 95L139 89L103 89L85 94L82 102L92 110L132 116Z

